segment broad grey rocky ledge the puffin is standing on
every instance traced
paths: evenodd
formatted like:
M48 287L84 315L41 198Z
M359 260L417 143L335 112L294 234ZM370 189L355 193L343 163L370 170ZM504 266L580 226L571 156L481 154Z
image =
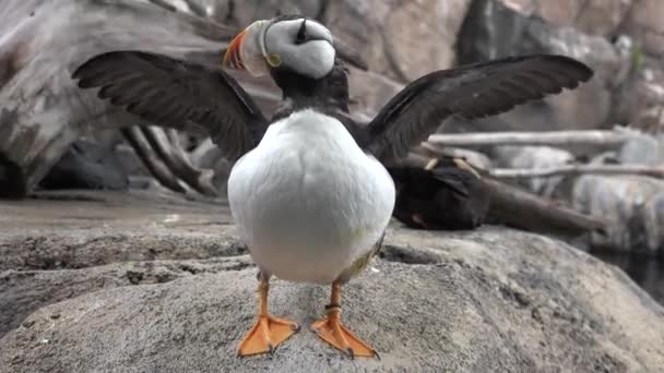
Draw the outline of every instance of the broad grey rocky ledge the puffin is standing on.
M256 269L227 208L138 194L0 202L0 372L655 372L664 309L621 270L497 227L392 227L344 292L381 360L349 360L304 327L237 358ZM329 289L275 280L275 315L310 324Z

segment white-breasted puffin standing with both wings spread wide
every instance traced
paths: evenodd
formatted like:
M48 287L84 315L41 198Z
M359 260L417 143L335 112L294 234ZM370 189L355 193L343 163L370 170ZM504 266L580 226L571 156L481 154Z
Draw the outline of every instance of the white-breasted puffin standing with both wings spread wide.
M565 56L509 57L431 72L407 84L366 125L348 115L348 70L332 33L301 15L252 23L220 65L143 50L108 51L72 74L79 87L155 125L198 127L235 161L228 204L258 267L258 312L241 357L272 353L299 329L270 314L273 277L331 286L311 329L349 356L378 357L344 325L342 288L379 251L395 203L383 167L450 116L497 115L574 88L592 70ZM225 69L270 76L281 88L269 118Z

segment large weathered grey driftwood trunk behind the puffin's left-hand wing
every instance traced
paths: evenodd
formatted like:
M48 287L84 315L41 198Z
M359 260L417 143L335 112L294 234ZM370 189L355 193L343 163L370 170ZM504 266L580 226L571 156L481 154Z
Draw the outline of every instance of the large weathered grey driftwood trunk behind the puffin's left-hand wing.
M24 196L70 144L91 129L150 124L108 104L100 105L95 92L75 87L71 73L90 57L109 50L142 49L220 64L237 27L176 12L167 1L157 3L0 1L0 197ZM345 49L343 41L337 48L340 57L366 68L366 62ZM238 72L233 75L261 109L273 111L281 94L269 79L249 80ZM154 167L149 168L159 182L178 190L183 181L194 190L212 194L210 185L201 181L204 178L199 178L200 170L192 169L178 156L177 146L167 151L174 144L166 141L168 135L163 130L128 130L124 135L134 145L149 144L138 153L143 154L144 161L153 161ZM147 136L145 142L140 135ZM163 172L157 164L165 165Z

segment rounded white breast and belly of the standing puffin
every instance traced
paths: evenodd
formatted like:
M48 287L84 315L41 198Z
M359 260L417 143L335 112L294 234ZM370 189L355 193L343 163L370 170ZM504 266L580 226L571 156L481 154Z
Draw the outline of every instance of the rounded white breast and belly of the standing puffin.
M384 231L394 183L341 122L304 110L272 124L238 160L228 201L261 270L329 284Z

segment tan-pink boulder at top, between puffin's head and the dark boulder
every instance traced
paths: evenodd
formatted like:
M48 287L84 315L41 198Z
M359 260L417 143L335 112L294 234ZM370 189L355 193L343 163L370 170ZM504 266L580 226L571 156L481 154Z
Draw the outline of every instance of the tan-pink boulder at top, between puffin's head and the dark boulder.
M470 0L330 1L322 20L363 51L369 70L401 83L454 64L454 44Z

